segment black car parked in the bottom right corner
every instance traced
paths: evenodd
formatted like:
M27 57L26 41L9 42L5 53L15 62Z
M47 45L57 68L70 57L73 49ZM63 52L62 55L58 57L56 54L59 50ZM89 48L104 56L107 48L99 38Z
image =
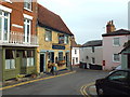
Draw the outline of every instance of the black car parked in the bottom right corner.
M130 97L130 70L116 70L108 77L96 80L95 87L99 96L125 95Z

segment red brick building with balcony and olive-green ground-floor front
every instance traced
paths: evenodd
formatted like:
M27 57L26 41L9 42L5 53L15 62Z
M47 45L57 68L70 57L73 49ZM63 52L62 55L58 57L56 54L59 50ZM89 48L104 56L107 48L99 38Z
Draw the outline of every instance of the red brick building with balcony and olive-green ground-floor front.
M37 0L0 2L2 81L36 71Z

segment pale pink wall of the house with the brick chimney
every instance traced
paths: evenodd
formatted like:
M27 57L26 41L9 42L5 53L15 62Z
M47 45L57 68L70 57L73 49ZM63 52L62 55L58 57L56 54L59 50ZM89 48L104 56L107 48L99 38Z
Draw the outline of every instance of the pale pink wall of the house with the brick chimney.
M113 45L113 39L120 38L120 46ZM117 67L121 64L121 55L120 61L115 63L113 61L113 54L118 54L123 48L125 42L128 41L128 36L114 36L114 37L103 37L103 60L105 60L105 70L110 70L114 67Z

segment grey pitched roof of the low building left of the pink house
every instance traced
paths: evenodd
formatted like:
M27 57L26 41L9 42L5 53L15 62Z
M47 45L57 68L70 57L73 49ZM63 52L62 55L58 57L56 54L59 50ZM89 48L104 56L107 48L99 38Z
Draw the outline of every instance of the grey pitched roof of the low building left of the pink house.
M102 40L88 41L82 46L83 47L88 47L88 46L102 46Z

